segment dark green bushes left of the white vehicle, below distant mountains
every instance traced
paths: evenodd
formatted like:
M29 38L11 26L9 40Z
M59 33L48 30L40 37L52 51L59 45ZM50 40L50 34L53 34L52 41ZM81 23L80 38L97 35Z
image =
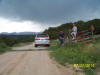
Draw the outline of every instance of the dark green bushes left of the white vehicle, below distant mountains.
M15 44L33 42L33 36L0 36L0 41L4 42L7 46L12 47Z

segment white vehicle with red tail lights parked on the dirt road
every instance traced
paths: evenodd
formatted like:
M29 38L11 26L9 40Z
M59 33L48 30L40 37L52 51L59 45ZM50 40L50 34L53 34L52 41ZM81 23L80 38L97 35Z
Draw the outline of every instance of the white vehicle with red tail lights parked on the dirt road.
M40 45L50 46L50 38L48 34L37 34L35 37L35 47Z

